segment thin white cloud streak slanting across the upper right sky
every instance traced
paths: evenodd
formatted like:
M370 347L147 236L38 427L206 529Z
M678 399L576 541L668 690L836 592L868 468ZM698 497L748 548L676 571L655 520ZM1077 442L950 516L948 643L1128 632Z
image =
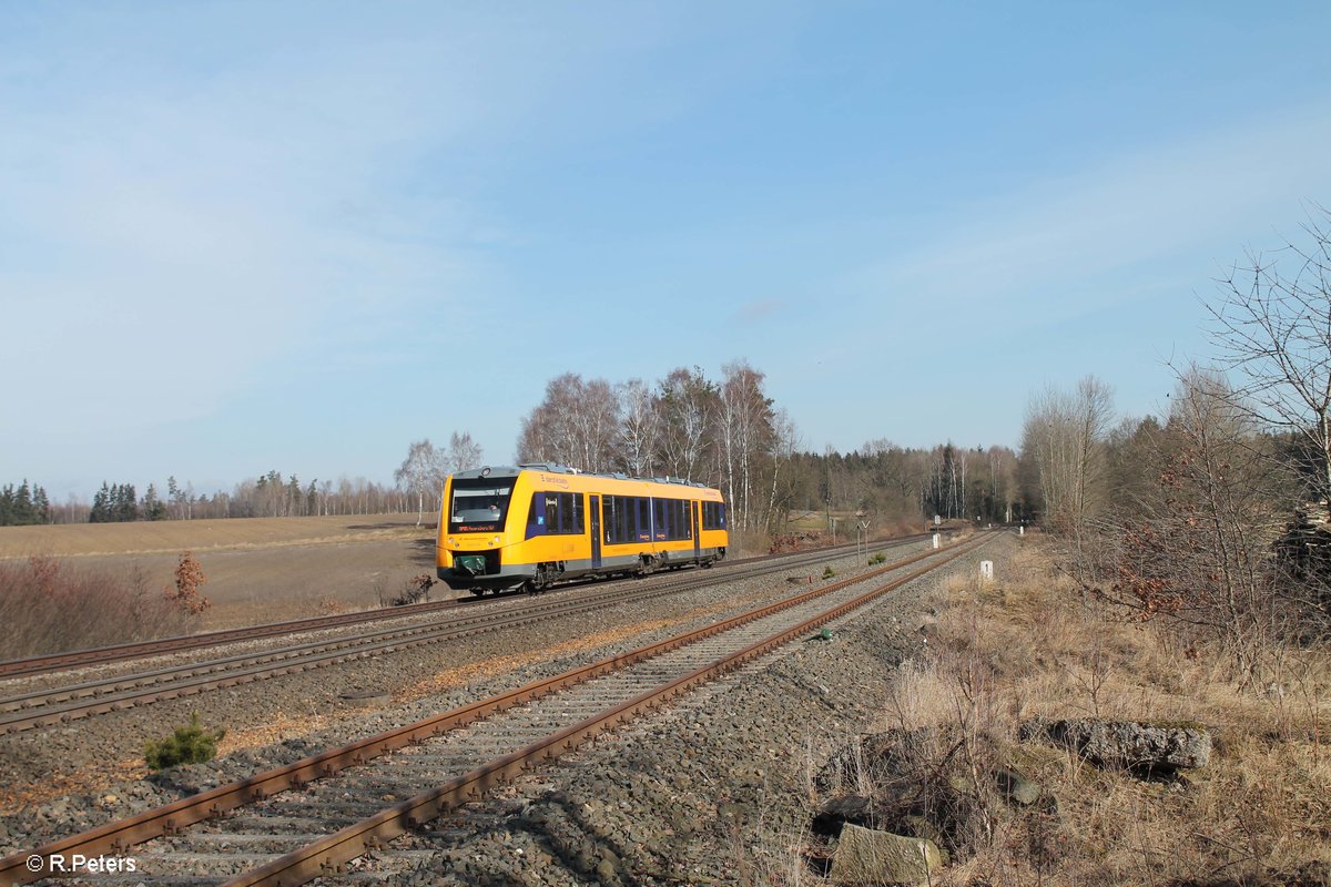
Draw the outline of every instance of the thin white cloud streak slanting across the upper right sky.
M976 203L933 242L853 273L864 291L981 303L1087 281L1226 238L1227 253L1331 189L1331 102L1165 145ZM1113 299L1113 291L1103 291Z

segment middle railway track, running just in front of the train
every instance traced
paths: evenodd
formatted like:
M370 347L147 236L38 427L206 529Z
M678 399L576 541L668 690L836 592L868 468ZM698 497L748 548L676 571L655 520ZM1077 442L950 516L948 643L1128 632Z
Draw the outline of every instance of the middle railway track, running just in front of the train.
M878 549L910 544L893 540ZM598 586L578 594L538 596L503 608L443 612L442 621L373 629L330 640L220 657L204 662L164 666L148 672L100 677L79 684L41 688L0 697L0 735L52 727L80 718L206 693L253 681L383 656L410 646L455 641L462 637L528 625L556 616L596 610L610 604L677 594L719 581L749 578L800 569L845 556L844 549L819 549L781 559L755 559L725 570L692 572L646 581Z

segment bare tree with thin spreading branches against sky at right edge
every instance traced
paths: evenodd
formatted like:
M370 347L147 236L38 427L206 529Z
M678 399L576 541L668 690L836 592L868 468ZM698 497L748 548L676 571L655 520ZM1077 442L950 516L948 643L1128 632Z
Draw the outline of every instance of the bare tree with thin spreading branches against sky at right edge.
M1248 253L1219 282L1210 336L1242 380L1234 404L1312 453L1308 487L1331 516L1331 211L1303 230L1310 245Z

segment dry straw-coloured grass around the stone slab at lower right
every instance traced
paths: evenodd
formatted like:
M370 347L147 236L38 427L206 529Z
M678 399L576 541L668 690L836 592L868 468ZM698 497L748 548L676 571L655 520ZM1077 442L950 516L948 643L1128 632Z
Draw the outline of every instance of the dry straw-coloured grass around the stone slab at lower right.
M1268 650L1282 680L1243 692L1222 656L1082 601L1036 545L1004 567L986 588L944 589L930 654L901 670L884 726L982 738L1057 814L1000 805L942 883L1320 883L1296 874L1331 863L1331 653ZM1179 782L1142 782L1017 741L1024 719L1082 715L1203 723L1221 743Z

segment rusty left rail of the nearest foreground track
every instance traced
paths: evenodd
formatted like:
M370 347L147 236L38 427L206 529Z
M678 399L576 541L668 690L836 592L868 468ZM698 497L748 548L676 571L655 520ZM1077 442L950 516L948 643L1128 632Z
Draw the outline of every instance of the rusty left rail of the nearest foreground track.
M631 650L614 657L607 657L591 665L586 665L578 669L564 672L563 674L555 676L552 678L546 678L540 681L534 681L515 690L508 690L476 702L459 706L443 714L433 715L423 721L410 723L394 730L379 733L377 735L359 739L357 742L331 749L315 755L310 755L301 761L284 767L276 767L244 781L232 782L217 789L212 789L189 798L182 798L173 803L141 813L138 815L122 819L118 822L106 823L97 828L73 835L71 838L60 839L39 847L31 852L15 854L5 859L0 859L0 883L8 884L27 884L37 880L43 876L51 875L49 864L52 856L69 858L75 854L83 854L85 856L95 856L98 854L124 854L132 846L150 840L152 838L158 838L162 835L170 835L178 832L193 823L202 822L205 819L216 818L224 813L233 810L236 807L245 806L254 801L260 801L269 795L277 794L280 791L286 791L290 789L303 787L306 783L313 782L319 778L326 778L341 773L347 767L359 766L367 763L369 761L385 755L393 750L401 749L407 745L415 745L423 742L431 737L441 735L449 730L458 729L461 726L473 723L482 718L486 718L498 711L503 711L518 705L523 705L532 699L548 696L558 690L568 686L575 686L583 684L602 674L620 670L636 662L647 658L652 658L667 653L669 650L677 649L687 644L700 641L703 638L731 630L745 622L763 618L772 613L777 613L791 606L797 606L805 601L813 600L829 594L832 592L840 590L853 584L870 581L872 578L890 572L902 569L914 563L918 563L930 557L941 557L937 564L929 565L924 569L916 570L905 577L894 580L888 585L870 592L869 596L884 594L888 590L900 586L904 582L918 578L920 576L942 567L952 560L961 557L970 551L974 551L984 540L977 540L973 544L965 545L954 552L937 552L926 551L918 555L913 555L894 564L885 565L877 570L872 570L865 576L851 577L831 585L825 585L801 594L796 594L791 598L785 598L776 604L769 604L767 606L743 613L715 625L708 625L684 634L679 634L647 646ZM872 600L869 596L861 596L864 600ZM856 598L856 600L861 600ZM835 617L829 617L835 618ZM582 726L582 725L579 725ZM507 755L512 757L512 755ZM507 766L507 765L506 765ZM500 770L504 770L500 767ZM474 774L469 774L474 775ZM463 777L466 779L466 777ZM457 781L454 781L457 782ZM492 779L490 775L480 775L476 779L471 779L462 789L453 791L458 798L470 798L473 790L480 790L491 785ZM447 783L451 785L451 783ZM465 789L465 791L463 791ZM437 795L430 793L431 795ZM443 798L450 793L439 795ZM462 803L459 801L458 803ZM401 806L401 805L398 805ZM454 805L457 806L457 805ZM382 814L381 814L382 815ZM407 824L410 827L410 824ZM378 828L378 826L375 826ZM341 832L338 832L341 834ZM315 842L319 843L319 842ZM311 844L314 846L314 844ZM347 844L350 846L350 844ZM322 851L321 851L322 852ZM359 855L359 851L354 855ZM353 855L353 856L354 856ZM28 860L40 856L43 859L43 867L37 871L32 871L28 867ZM353 858L347 856L347 858ZM326 859L330 859L327 856ZM319 874L315 871L315 875ZM295 882L272 882L272 883L295 883Z

